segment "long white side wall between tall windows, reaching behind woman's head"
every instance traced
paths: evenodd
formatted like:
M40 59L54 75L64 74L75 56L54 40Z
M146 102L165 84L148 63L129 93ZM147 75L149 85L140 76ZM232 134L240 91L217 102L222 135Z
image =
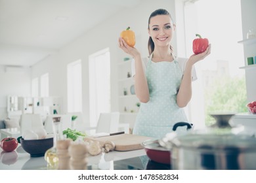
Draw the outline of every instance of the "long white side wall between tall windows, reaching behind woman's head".
M32 67L32 78L43 73L49 72L49 95L59 95L64 97L64 111L67 111L67 84L66 84L66 65L77 59L82 60L82 83L83 83L83 118L89 124L89 80L88 80L88 58L90 54L98 52L106 47L110 48L111 60L111 103L112 111L118 110L117 103L117 62L125 54L118 48L117 39L121 31L130 26L137 36L137 47L142 56L148 55L148 17L150 13L157 8L165 8L171 12L175 19L174 0L161 1L142 1L140 5L134 8L127 8L119 12L112 18L106 20L95 28L91 29L74 42L66 45L57 54L37 63ZM100 13L96 12L95 13ZM92 15L93 18L93 15ZM173 47L176 47L175 40Z

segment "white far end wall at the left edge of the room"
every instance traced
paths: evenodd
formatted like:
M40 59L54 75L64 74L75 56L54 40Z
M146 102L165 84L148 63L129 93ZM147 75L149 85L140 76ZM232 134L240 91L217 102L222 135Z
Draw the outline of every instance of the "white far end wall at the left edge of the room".
M30 68L18 70L6 71L6 67L0 65L0 120L7 117L8 95L30 95Z

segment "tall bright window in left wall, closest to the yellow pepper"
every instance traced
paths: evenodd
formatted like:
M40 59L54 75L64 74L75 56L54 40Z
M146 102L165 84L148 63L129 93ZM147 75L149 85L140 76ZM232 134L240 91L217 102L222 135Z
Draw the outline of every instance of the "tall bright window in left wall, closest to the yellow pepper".
M100 112L110 112L110 52L106 48L89 56L90 122L96 126Z

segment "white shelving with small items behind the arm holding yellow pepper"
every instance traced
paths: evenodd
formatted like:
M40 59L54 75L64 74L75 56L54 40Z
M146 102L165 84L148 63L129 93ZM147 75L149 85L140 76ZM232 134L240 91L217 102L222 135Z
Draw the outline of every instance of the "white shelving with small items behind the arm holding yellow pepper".
M134 80L131 77L131 59L118 63L118 78L120 122L129 123L133 128L140 103L135 95Z

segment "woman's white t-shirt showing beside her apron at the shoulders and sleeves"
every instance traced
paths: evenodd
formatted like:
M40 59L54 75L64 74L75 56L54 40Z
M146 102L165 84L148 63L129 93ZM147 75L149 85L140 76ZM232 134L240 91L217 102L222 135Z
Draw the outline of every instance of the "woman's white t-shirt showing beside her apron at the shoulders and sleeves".
M142 66L144 69L144 73L146 73L146 66L148 64L148 60L150 58L142 58ZM179 66L181 67L181 71L184 74L184 70L186 68L186 62L188 61L188 58L175 58L176 61L178 61ZM132 76L135 76L135 60L131 60L131 74ZM192 81L196 80L198 77L196 76L196 69L194 68L194 65L192 66Z

